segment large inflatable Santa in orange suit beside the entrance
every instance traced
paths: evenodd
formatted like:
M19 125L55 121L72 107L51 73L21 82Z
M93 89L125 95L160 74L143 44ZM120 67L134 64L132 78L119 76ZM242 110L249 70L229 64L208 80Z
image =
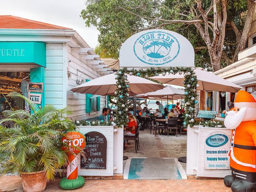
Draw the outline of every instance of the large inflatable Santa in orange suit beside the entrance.
M230 169L224 178L233 192L256 192L256 101L245 91L237 92L234 108L224 124L232 129Z

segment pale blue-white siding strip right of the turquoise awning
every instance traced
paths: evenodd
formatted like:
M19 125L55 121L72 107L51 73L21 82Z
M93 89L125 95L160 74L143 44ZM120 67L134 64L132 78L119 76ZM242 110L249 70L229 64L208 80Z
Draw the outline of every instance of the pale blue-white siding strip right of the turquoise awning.
M46 44L45 104L63 108L63 44Z

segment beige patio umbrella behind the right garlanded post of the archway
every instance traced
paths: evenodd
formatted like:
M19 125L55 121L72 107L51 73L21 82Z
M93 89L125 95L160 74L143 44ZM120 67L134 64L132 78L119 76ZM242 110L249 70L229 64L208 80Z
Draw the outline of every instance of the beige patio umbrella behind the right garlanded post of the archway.
M226 79L223 79L219 76L214 75L213 73L209 73L205 71L203 68L197 67L195 68L195 73L197 76L197 81L199 90L211 90L211 91L224 91L224 92L238 92L242 87L229 82ZM184 75L180 74L169 74L169 75L159 75L150 77L151 79L155 79L164 84L172 84L172 85L180 85L184 86Z

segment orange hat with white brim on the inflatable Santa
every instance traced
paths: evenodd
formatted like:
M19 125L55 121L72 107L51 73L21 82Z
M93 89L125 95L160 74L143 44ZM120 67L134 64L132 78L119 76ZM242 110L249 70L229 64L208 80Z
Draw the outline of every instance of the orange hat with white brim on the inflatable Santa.
M235 107L238 108L256 108L256 101L253 96L243 90L237 92L236 100L234 102Z

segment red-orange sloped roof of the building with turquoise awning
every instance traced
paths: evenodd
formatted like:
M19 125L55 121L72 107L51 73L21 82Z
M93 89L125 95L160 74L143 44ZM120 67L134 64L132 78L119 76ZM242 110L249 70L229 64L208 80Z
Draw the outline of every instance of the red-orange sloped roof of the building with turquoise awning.
M40 21L24 19L21 17L15 17L12 15L0 15L0 28L2 29L71 29L67 27L52 25L49 23L43 23Z

